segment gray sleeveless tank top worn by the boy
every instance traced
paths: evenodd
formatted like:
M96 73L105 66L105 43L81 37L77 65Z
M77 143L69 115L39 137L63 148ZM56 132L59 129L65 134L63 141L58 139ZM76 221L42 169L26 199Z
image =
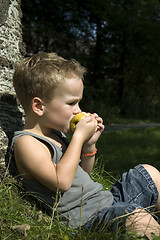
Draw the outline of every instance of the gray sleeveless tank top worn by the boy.
M67 142L63 133L53 131ZM15 141L23 135L31 135L44 144L49 144L54 151L52 161L55 164L62 158L64 154L62 148L47 138L27 131L17 131L12 140L12 154L10 159L10 168L14 170L15 176L19 175L19 172L14 160L13 148ZM103 186L97 182L93 182L88 173L79 165L72 186L64 193L55 193L36 180L26 180L23 178L21 180L24 188L42 201L45 204L45 208L50 208L55 213L58 210L59 218L71 228L77 228L80 225L83 226L98 211L110 207L113 203L111 192L108 190L102 191Z

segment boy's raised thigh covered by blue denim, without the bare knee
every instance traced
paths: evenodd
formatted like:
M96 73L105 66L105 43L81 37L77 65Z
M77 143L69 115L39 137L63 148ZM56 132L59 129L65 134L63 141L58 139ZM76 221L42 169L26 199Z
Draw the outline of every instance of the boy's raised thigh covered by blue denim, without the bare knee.
M155 207L158 201L156 185L141 164L124 173L121 180L115 182L111 192L114 196L114 204L125 202L148 208Z

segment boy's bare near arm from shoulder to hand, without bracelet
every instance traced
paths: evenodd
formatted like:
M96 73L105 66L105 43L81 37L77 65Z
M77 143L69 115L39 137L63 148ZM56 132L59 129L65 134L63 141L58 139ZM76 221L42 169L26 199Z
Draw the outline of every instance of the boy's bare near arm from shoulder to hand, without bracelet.
M53 191L57 188L67 191L77 171L82 145L95 131L94 119L84 121L85 126L79 126L74 132L65 154L57 165L52 162L52 154L46 145L31 136L19 138L15 144L15 159L19 172L26 174L26 178L36 179Z

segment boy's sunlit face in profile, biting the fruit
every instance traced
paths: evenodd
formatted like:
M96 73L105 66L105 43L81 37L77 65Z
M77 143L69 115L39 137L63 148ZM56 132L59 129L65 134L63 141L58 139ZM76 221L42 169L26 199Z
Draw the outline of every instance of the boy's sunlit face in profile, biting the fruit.
M53 94L53 99L44 105L43 122L46 128L67 133L71 119L81 111L79 102L83 95L83 82L79 77L66 79Z

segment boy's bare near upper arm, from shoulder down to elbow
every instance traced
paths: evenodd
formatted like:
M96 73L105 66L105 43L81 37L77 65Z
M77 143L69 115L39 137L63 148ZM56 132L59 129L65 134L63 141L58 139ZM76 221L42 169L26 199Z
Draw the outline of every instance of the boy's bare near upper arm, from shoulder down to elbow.
M51 189L54 185L49 183L50 179L53 175L54 180L56 179L55 165L52 162L53 155L54 153L45 144L30 135L23 135L15 142L14 156L19 173L23 175L23 178L36 179L45 186L50 184ZM50 177L48 173L51 170Z

